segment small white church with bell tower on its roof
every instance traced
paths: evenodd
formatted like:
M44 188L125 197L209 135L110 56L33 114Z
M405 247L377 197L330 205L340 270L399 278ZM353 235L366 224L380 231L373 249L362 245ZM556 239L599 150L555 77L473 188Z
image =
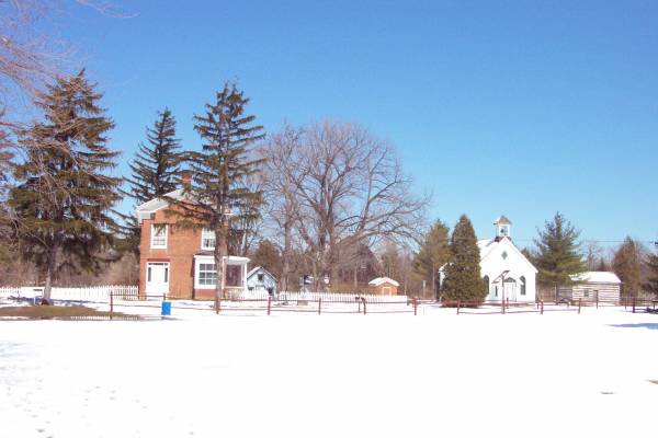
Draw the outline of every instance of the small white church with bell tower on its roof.
M488 291L485 301L529 301L536 296L537 269L511 240L512 222L500 216L494 222L496 237L477 242L480 251L483 287ZM443 268L442 268L443 270ZM439 274L443 279L443 272Z

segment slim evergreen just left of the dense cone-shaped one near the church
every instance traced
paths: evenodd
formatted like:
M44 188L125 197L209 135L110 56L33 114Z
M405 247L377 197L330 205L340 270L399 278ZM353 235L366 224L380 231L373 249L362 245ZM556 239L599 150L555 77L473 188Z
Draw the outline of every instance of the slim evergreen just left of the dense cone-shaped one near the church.
M439 299L439 269L450 260L449 228L441 220L434 222L427 233L420 251L413 258L413 273L431 285Z

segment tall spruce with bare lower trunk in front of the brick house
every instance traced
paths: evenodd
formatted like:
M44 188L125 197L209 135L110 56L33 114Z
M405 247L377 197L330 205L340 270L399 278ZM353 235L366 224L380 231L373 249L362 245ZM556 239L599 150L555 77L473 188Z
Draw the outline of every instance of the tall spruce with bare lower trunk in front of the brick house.
M206 228L215 233L216 293L224 296L223 257L228 255L231 239L230 216L241 211L258 216L253 206L262 193L249 187L249 176L260 171L263 160L251 158L251 146L264 138L263 127L254 125L256 117L246 115L249 99L235 83L225 83L216 93L215 102L206 104L205 114L194 116L194 129L202 138L201 152L190 152L192 172L190 184L184 186L183 199L171 201L182 216L180 226ZM253 218L240 218L240 222Z

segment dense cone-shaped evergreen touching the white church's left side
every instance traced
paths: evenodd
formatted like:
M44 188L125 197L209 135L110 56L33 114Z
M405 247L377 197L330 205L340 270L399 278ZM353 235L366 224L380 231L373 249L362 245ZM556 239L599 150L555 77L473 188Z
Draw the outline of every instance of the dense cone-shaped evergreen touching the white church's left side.
M441 288L444 301L467 301L477 304L487 292L480 276L479 249L473 223L462 215L450 241L451 260L445 266L445 279Z

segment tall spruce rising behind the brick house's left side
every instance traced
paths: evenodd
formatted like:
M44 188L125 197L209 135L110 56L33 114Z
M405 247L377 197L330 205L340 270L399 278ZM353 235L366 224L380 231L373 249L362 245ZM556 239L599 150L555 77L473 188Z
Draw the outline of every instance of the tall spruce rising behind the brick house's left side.
M129 164L132 176L126 178L129 188L125 195L135 199L137 205L170 193L180 181L181 163L180 140L175 137L175 118L169 108L158 112L152 127L146 128L146 145L139 143L135 159ZM139 254L141 227L134 215L122 215L125 226L126 249Z

